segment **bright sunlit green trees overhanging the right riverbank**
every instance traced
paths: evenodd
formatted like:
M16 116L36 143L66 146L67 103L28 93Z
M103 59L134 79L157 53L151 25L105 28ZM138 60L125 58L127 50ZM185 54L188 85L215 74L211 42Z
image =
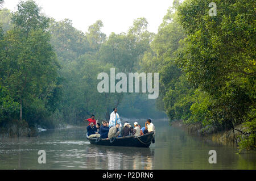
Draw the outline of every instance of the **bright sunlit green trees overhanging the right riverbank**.
M185 1L179 20L187 33L179 65L197 94L191 111L204 124L234 128L247 125L255 146L255 10L254 1L216 1L217 16L208 15L208 1ZM200 11L198 11L200 10ZM189 15L193 12L194 15ZM194 22L194 23L191 23ZM200 98L203 95L203 98ZM195 116L192 118L196 121ZM245 141L247 138L245 138Z

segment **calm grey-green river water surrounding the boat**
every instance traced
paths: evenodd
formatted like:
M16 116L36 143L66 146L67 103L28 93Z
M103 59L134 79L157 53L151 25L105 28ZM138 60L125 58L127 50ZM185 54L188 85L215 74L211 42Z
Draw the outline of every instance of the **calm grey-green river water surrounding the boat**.
M90 145L85 127L1 138L0 169L256 169L255 151L236 154L233 146L189 136L168 121L153 123L156 136L150 148ZM46 151L45 164L38 163L39 150ZM217 163L208 162L209 150L216 150Z

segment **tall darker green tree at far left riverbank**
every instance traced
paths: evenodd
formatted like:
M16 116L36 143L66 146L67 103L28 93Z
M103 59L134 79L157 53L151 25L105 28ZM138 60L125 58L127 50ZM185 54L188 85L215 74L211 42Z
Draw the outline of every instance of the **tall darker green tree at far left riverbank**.
M29 124L56 109L52 94L59 64L49 43L49 19L39 11L32 1L20 2L11 16L13 26L3 34L1 44L1 86L19 103L19 119Z

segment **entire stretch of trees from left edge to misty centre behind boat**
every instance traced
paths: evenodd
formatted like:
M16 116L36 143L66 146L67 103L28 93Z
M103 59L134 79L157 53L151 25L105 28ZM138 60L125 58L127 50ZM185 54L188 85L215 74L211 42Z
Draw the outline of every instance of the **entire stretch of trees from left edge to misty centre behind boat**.
M2 125L23 119L31 127L49 128L92 114L109 119L118 106L124 116L164 117L142 94L97 91L101 72L139 71L139 58L153 36L146 19L135 20L127 33L107 37L101 20L83 33L69 19L47 18L34 1L20 1L17 7L16 12L0 11Z

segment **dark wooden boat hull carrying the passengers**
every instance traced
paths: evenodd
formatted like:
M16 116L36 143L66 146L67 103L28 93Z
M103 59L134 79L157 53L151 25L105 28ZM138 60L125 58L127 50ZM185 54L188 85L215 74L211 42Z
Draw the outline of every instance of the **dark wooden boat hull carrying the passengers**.
M154 133L146 133L142 136L113 137L110 140L102 138L88 138L90 144L105 146L135 146L148 148L151 142L155 142Z

